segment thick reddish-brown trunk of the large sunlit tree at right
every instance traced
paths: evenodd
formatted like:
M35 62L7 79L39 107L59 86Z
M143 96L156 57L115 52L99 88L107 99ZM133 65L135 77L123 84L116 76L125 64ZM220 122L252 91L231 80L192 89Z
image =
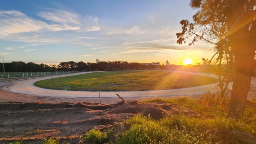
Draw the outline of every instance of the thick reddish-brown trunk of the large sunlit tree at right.
M248 35L247 21L248 15L245 14L245 1L228 0L232 13L229 15L228 31L229 46L235 60L235 79L233 80L230 108L228 116L241 118L247 101L247 94L251 85L251 73L254 63L255 41ZM247 17L245 17L245 15Z

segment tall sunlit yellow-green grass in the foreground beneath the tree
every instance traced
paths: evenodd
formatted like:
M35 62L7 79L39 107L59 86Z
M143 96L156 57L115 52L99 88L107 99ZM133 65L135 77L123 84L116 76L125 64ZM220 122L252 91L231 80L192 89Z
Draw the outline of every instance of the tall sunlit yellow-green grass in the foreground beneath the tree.
M118 144L208 144L230 143L231 130L251 133L256 136L256 123L247 124L234 119L198 119L183 115L153 120L137 114L127 120L130 129L117 138ZM245 142L246 140L240 140Z

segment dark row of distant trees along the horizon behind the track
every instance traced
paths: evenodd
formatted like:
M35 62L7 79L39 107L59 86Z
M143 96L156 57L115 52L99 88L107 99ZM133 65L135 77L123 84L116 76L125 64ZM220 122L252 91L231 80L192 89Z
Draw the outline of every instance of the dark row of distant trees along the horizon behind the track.
M49 71L73 71L76 64L76 70L86 71L115 71L115 70L154 70L154 69L166 69L166 65L154 65L154 64L140 64L140 63L128 63L127 61L113 61L99 63L84 63L79 61L62 62L59 65L46 65L35 63L24 63L22 61L13 61L11 63L4 63L5 72L49 72ZM172 65L172 67L177 67ZM3 72L3 64L0 63L0 72Z

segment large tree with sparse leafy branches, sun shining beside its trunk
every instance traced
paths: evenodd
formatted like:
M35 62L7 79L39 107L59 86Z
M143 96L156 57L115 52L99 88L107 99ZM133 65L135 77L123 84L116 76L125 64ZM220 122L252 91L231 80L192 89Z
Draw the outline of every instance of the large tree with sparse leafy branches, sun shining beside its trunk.
M224 75L219 86L225 92L227 85L233 81L228 116L243 116L247 94L250 89L251 74L254 69L256 50L256 0L191 0L190 6L198 9L193 16L195 23L188 20L180 22L183 31L177 33L177 43L194 36L189 45L197 40L204 40L214 45L219 62L219 73L224 63L227 70L235 70L235 76ZM212 58L212 59L213 59ZM210 63L212 62L210 60ZM223 86L226 81L226 86Z

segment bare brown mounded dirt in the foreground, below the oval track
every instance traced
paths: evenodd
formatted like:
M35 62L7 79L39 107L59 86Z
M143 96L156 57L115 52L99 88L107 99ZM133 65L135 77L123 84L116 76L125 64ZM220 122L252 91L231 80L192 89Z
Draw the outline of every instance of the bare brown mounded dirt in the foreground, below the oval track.
M105 127L139 113L153 119L183 113L201 117L199 113L163 101L157 103L0 103L0 143L10 140L35 140L48 137L82 136L93 128Z

